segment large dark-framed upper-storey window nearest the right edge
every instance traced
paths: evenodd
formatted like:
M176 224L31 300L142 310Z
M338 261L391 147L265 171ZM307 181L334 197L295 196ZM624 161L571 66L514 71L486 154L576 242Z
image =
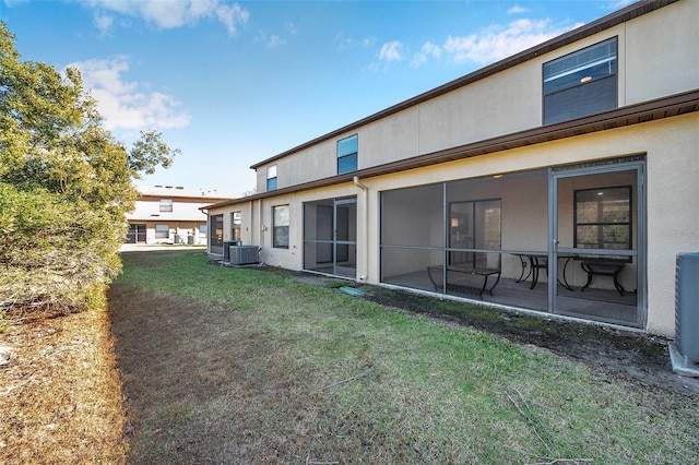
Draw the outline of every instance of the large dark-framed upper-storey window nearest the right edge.
M614 51L597 57L595 60L595 49L602 49L612 43ZM585 53L589 53L587 62L582 64L578 62L577 67L569 64L568 69L564 68L558 73L547 74L557 64L564 64L567 60L577 57L584 57ZM618 36L614 36L545 62L542 65L542 123L545 126L555 124L617 108L619 105L618 61L619 40ZM600 71L603 70L600 67L605 63L607 63L607 72ZM574 78L574 80L569 79L560 86L550 84L566 76ZM614 91L609 86L613 86ZM606 96L605 98L606 94L613 94L613 97ZM583 105L576 105L572 108L571 105L566 105L565 98ZM584 105L585 103L587 105Z

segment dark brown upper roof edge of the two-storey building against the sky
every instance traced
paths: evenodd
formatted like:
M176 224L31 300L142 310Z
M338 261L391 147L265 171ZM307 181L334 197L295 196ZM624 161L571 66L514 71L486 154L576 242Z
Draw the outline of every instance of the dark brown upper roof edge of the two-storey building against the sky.
M558 37L555 37L550 40L547 40L543 44L540 44L537 46L534 46L532 48L529 48L524 51L521 51L517 55L513 55L511 57L508 57L503 60L500 60L494 64L490 64L488 67L482 68L477 71L474 71L473 73L466 74L462 78L459 78L454 81L451 81L447 84L443 84L439 87L433 88L431 91L427 91L423 94L419 94L413 98L410 98L407 100L404 100L400 104L396 104L392 107L386 108L379 112L376 112L371 116L368 116L364 119L360 119L358 121L355 121L351 124L347 124L345 127L342 127L335 131L329 132L324 135L321 135L320 138L313 139L309 142L306 142L301 145L298 145L294 148L291 148L286 152L283 152L279 155L275 155L271 158L266 158L262 162L259 162L254 165L252 165L250 168L251 169L257 169L262 165L266 165L271 162L274 162L276 159L280 158L284 158L288 155L292 155L294 153L300 152L305 148L311 147L320 142L324 142L331 139L335 139L340 135L343 135L346 132L350 131L354 131L363 126L369 124L371 122L378 121L380 119L387 118L391 115L394 115L399 111L403 111L407 108L414 107L416 105L422 104L423 102L426 100L430 100L435 97L441 96L443 94L447 94L449 92L455 91L460 87L463 87L465 85L472 84L476 81L483 80L485 78L488 78L493 74L499 73L501 71L505 71L509 68L516 67L518 64L521 64L525 61L529 61L533 58L536 58L541 55L544 53L548 53L549 51L556 50L558 48L565 47L569 44L576 43L578 40L581 40L585 37L589 37L591 35L597 34L602 31L608 29L611 27L614 27L618 24L625 23L629 20L632 20L635 17L641 16L643 14L650 13L652 11L655 11L660 8L666 7L671 3L675 3L676 1L679 0L641 0L637 3L633 3L627 8L624 8L619 11L616 11L612 14L608 14L597 21L594 21L592 23L585 24L583 26L580 26L576 29L572 29L566 34L562 34Z

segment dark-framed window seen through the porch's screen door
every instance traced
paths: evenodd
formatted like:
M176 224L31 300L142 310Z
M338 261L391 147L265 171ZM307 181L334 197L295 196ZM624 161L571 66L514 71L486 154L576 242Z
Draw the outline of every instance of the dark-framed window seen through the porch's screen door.
M574 243L579 249L631 249L631 187L576 191Z

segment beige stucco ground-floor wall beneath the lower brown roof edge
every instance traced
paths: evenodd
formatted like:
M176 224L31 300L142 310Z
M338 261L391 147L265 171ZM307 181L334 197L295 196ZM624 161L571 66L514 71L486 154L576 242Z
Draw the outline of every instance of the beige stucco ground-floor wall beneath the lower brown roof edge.
M549 166L584 160L645 154L647 157L647 233L648 233L648 324L651 333L674 335L674 276L677 253L699 251L699 114L667 118L642 124L538 144L393 175L362 179L369 191L346 182L293 195L270 198L239 206L244 210L244 229L250 242L263 248L265 263L291 270L303 269L303 203L357 195L357 278L379 284L380 192L404 187L494 174L546 169ZM538 206L547 196L545 171L525 172L512 187L521 195L503 199L507 215L517 224L518 235L502 237L503 249L545 248L542 225L546 212ZM507 178L507 177L506 177ZM538 178L538 179L536 179ZM540 182L541 181L541 182ZM481 198L487 198L484 191ZM291 206L289 249L272 248L272 206ZM215 213L215 212L212 212ZM258 223L259 222L259 223ZM226 229L229 229L226 227ZM512 230L503 227L503 231ZM545 230L545 229L544 229ZM523 234L529 231L526 234ZM545 233L544 233L545 234ZM642 250L641 250L642 252ZM510 273L516 270L510 263Z

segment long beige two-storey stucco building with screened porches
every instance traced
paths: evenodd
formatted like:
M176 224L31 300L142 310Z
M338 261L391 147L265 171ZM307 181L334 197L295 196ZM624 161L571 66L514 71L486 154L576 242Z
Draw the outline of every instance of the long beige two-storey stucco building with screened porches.
M258 194L208 206L209 252L672 337L697 24L641 1L260 162Z

